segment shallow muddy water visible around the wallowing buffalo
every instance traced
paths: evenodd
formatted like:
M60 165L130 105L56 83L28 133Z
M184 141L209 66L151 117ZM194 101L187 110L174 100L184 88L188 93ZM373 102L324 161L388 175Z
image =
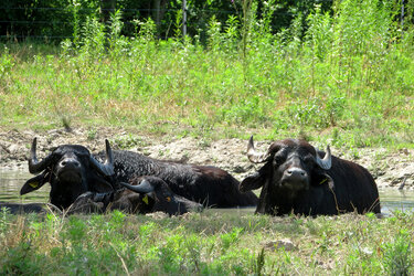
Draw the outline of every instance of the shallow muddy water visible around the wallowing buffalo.
M47 202L50 185L45 184L38 191L31 192L23 197L19 195L19 191L23 183L33 176L23 170L1 170L0 169L0 201L3 202ZM380 199L382 212L392 214L394 210L412 211L414 210L414 191L399 191L395 189L381 189ZM254 208L247 209L227 209L223 212L253 213Z

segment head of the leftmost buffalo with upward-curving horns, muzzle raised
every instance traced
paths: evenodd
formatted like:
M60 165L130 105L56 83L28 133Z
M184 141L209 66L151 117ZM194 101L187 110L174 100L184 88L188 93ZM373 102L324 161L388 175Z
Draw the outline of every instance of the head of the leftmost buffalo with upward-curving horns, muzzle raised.
M98 162L83 146L63 145L42 160L36 157L36 138L33 139L29 158L29 171L36 177L29 179L20 194L51 184L50 201L61 209L68 208L84 192L108 192L113 190L113 152L108 140L106 160Z

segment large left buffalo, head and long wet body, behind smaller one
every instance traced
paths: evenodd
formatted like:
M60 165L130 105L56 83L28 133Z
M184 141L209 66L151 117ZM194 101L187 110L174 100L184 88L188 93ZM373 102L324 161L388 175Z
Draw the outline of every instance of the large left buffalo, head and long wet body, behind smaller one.
M36 139L33 139L29 170L31 173L40 174L26 181L21 189L21 194L50 182L51 203L61 209L67 209L85 192L91 192L85 198L88 200L95 199L92 194L108 193L120 194L119 197L123 198L127 192L115 192L125 183L134 183L138 177L155 177L149 181L152 185L157 185L156 178L158 178L177 195L174 199L187 199L205 206L231 208L257 204L257 197L253 192L240 192L238 181L215 167L161 161L131 151L113 151L108 141L106 141L106 152L96 156L92 156L83 146L64 145L54 149L41 161L38 161L35 148ZM113 201L118 199L113 198ZM155 205L157 209L159 204Z

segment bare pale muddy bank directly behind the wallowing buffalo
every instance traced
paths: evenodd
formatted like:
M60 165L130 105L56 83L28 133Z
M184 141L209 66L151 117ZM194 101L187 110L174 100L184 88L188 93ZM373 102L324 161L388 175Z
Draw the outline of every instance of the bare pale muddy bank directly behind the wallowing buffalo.
M205 141L192 137L150 137L134 130L116 128L76 128L71 131L52 129L36 132L33 130L0 129L1 170L28 170L26 158L33 137L38 137L38 155L44 157L51 149L64 144L86 146L91 151L104 150L105 139L109 139L114 149L128 149L159 159L181 160L188 163L211 164L230 171L242 180L255 170L246 158L247 141L241 139L221 139ZM270 141L257 141L258 150L266 150ZM325 148L325 145L315 145ZM414 149L390 152L382 148L363 148L347 151L331 147L332 153L353 160L368 168L380 188L414 189Z

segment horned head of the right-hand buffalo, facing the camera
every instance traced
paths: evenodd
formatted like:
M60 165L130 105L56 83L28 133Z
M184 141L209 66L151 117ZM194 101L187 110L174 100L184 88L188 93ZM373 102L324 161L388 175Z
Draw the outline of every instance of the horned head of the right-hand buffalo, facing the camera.
M263 187L264 197L284 197L294 199L311 185L327 182L333 185L326 173L331 168L331 152L327 147L325 157L305 140L286 139L270 145L266 152L257 152L253 137L247 146L247 157L254 163L265 163L256 173L247 177L240 184L241 191Z

